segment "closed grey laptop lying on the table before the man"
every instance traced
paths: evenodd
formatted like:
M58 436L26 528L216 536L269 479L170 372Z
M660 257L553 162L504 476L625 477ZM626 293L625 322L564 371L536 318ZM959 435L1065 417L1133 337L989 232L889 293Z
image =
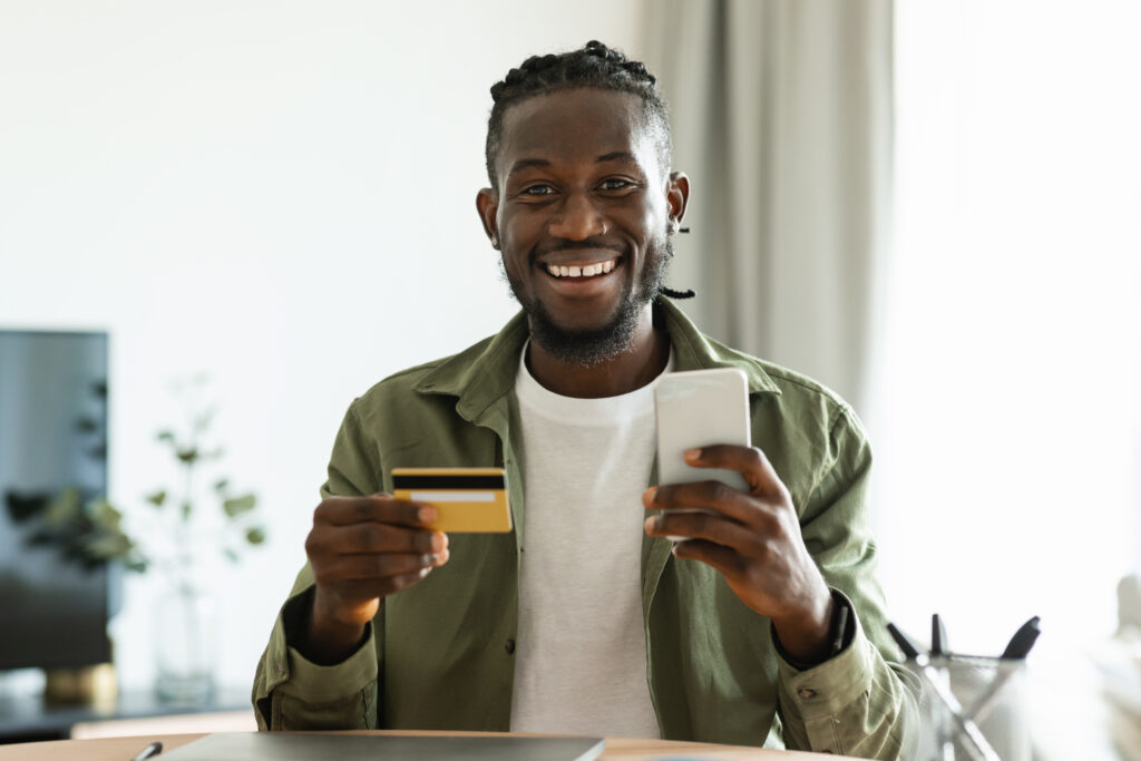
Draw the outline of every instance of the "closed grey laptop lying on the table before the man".
M327 732L224 732L163 753L171 761L593 761L601 737L515 735L332 735Z

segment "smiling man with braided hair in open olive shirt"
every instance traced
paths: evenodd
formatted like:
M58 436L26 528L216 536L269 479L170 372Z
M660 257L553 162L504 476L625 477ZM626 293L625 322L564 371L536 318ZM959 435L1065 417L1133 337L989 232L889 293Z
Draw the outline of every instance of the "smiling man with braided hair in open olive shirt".
M523 313L350 406L258 669L261 727L905 753L915 687L883 655L863 430L662 297L689 183L654 78L590 42L492 95L477 208ZM758 447L687 458L750 493L647 488L654 380L725 366L747 374ZM388 495L394 468L445 465L505 468L513 532L446 536Z

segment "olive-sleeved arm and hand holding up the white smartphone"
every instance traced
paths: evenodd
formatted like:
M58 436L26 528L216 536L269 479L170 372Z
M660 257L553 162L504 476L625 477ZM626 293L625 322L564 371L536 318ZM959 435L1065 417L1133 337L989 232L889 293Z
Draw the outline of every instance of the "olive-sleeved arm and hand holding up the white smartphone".
M917 729L919 689L912 674L884 657L895 650L874 580L866 504L871 451L847 407L836 408L828 437L801 509L760 450L705 447L689 463L738 470L750 493L717 481L649 489L647 508L714 512L663 513L647 521L647 532L691 537L674 556L713 566L746 606L771 620L790 747L906 756ZM849 602L855 630L832 656L833 613Z

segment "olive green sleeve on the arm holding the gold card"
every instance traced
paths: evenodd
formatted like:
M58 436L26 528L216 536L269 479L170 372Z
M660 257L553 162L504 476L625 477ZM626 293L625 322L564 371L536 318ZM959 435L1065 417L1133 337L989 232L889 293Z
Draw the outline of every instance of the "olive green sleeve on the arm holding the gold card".
M322 497L380 491L370 463L354 405L337 435L329 479L321 487ZM264 731L377 729L381 653L378 632L383 632L383 602L366 626L365 640L349 657L334 665L318 665L293 647L311 594L313 570L306 564L277 615L258 663L252 693L258 728Z

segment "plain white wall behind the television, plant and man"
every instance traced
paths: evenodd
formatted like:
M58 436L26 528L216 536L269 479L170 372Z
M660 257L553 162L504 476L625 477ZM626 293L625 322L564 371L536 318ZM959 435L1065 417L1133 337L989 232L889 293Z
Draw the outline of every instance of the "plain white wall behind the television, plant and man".
M515 311L475 213L488 88L527 55L639 55L636 0L0 2L0 325L112 334L111 496L171 483L205 372L269 542L217 577L245 687L351 398ZM112 633L153 678L160 588Z

